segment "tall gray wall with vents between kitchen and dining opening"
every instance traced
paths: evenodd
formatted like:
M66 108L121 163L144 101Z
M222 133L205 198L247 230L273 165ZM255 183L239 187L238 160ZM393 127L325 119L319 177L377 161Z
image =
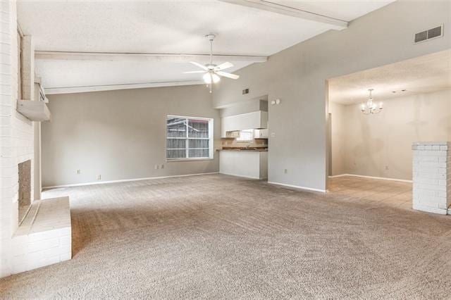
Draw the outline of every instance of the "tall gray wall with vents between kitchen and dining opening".
M451 48L451 35L413 44L414 32L443 23L451 27L450 1L396 1L238 70L239 80L221 80L214 105L228 106L268 94L268 180L326 189L326 80ZM249 94L242 95L242 89ZM284 173L284 169L288 173Z

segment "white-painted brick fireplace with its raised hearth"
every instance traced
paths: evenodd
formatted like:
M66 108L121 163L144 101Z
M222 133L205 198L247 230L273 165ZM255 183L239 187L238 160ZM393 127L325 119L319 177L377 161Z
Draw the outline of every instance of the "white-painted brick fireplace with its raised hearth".
M39 200L40 125L17 111L19 99L35 99L32 37L18 30L16 1L0 0L0 13L0 277L5 277L70 259L72 233L68 197Z

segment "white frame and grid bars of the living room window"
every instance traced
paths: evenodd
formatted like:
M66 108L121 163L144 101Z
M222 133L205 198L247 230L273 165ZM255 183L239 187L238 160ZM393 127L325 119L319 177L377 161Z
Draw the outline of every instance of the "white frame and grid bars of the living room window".
M187 124L190 122L190 120L204 120L208 121L209 123L209 137L189 137L190 132L189 130L186 130L186 137L168 137L168 119L169 118L178 118L178 119L185 119ZM166 161L205 161L214 159L214 119L213 118L201 118L201 117L190 117L185 115L166 115ZM180 158L168 158L168 150L180 150L183 148L168 148L168 139L184 139L185 142L185 157ZM190 149L206 149L206 148L190 148L190 139L206 139L209 141L209 156L208 157L189 157L189 151Z

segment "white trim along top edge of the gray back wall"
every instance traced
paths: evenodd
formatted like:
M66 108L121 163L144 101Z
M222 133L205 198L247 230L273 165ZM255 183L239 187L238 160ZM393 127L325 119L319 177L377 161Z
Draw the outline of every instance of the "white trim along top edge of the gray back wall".
M87 85L80 87L45 87L45 94L73 94L85 92L113 91L116 89L145 89L147 87L178 87L183 85L205 85L202 80L173 82L125 83L123 85Z

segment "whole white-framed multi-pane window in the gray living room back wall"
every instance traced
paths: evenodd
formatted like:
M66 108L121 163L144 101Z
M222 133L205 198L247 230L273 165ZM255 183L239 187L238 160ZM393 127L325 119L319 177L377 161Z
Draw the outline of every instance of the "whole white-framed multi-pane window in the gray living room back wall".
M213 119L168 115L166 159L213 158Z

